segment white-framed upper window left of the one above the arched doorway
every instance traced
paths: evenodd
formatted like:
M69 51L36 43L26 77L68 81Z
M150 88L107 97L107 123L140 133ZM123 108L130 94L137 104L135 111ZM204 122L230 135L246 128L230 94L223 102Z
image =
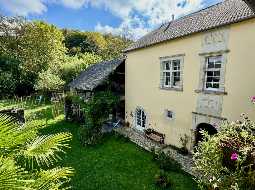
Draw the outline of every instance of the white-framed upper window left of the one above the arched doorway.
M170 59L161 62L163 88L181 88L181 59Z

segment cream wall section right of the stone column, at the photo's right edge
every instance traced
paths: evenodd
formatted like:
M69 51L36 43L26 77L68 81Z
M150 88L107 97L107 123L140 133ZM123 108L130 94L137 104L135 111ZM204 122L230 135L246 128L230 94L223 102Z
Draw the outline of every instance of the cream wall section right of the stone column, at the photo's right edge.
M231 26L223 116L237 120L247 113L255 121L255 19Z

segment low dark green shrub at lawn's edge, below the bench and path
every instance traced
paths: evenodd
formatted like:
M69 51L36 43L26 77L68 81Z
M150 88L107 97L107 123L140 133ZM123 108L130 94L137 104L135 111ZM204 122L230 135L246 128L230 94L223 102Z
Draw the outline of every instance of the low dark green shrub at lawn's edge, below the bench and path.
M175 172L181 170L181 165L175 160L171 159L169 153L159 151L157 154L154 154L154 160L156 161L161 170Z

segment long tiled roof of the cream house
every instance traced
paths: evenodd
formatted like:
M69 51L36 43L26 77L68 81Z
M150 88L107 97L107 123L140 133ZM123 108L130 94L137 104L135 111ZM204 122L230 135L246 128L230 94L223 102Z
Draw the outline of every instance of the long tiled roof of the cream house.
M255 17L255 12L242 0L225 0L221 3L163 24L128 47L125 52L145 48L172 40L229 25Z

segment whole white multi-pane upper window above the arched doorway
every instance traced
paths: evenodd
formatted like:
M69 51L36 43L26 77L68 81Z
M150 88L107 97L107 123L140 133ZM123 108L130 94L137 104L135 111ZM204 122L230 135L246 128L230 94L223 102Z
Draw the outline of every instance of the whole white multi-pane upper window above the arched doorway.
M219 90L222 68L222 56L206 58L205 89Z

